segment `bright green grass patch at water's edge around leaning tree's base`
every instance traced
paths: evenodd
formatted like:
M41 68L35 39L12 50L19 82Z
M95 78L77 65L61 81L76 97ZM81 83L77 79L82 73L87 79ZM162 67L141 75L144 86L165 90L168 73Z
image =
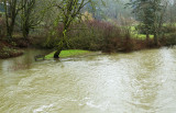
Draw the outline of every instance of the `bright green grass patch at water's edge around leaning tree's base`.
M62 50L59 57L61 58L66 58L66 57L74 57L74 56L79 56L79 55L85 55L89 54L91 52L89 50L81 50L81 49L67 49L67 50ZM45 56L46 59L53 58L55 52L48 54Z

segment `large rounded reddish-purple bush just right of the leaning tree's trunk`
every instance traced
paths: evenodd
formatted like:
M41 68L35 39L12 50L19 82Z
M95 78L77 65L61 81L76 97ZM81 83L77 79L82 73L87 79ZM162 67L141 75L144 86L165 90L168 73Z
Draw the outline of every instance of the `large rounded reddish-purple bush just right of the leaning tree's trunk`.
M97 20L85 21L73 27L85 27L85 30L72 31L68 34L72 48L105 52L114 50L118 46L117 43L122 37L121 29L109 22Z

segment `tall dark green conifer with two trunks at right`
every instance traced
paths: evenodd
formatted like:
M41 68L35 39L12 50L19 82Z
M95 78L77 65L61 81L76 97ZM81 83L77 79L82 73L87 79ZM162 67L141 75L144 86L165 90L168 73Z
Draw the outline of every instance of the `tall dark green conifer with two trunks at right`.
M163 3L162 0L131 0L129 4L141 22L139 27L146 34L146 38L148 39L148 35L153 34L155 45L158 45L158 35L162 33L167 2Z

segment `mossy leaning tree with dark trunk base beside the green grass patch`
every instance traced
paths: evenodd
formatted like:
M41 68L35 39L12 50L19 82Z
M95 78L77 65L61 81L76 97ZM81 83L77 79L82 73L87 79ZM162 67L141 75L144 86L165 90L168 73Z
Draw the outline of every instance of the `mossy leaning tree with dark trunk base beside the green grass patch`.
M88 3L94 4L92 0L61 0L52 2L52 5L56 7L59 10L59 14L56 19L57 23L63 23L63 36L57 44L56 53L54 54L55 58L58 58L59 53L62 52L63 47L66 45L68 46L68 37L67 32L72 23L77 19L81 19L81 9L87 5Z

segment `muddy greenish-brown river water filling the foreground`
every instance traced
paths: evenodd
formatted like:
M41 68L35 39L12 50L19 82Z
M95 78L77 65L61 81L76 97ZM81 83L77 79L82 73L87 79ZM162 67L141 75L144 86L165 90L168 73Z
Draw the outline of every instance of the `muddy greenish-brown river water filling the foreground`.
M0 113L176 113L176 47L0 60Z

